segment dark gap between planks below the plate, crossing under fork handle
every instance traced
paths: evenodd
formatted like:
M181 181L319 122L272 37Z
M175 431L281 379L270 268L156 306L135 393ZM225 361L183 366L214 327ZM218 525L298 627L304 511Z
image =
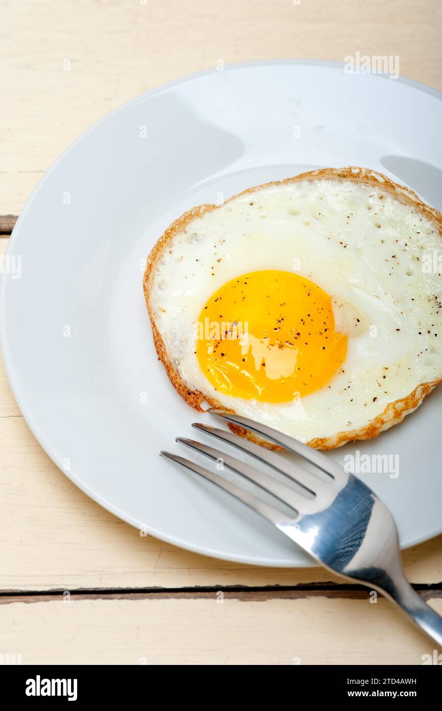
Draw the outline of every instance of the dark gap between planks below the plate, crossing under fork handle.
M415 584L414 589L424 600L442 598L442 582L433 584ZM50 602L69 592L70 599L75 600L140 600L140 599L210 599L222 592L227 599L238 599L244 602L264 602L269 599L303 599L307 597L328 597L331 599L366 599L370 589L357 584L311 583L296 586L276 585L265 587L243 587L230 585L222 587L180 587L180 588L104 588L104 589L53 589L0 592L0 604L16 602Z

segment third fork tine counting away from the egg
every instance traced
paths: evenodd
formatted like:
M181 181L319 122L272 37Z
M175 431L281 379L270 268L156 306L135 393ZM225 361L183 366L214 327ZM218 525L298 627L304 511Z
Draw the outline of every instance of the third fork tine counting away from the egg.
M185 447L190 447L190 449L210 457L210 459L214 461L221 460L222 464L227 466L228 469L232 469L232 471L235 471L237 474L253 481L253 483L260 486L264 491L271 493L272 496L276 496L276 498L279 498L279 501L288 504L297 512L305 512L307 508L306 505L311 501L308 498L303 498L303 496L293 491L289 486L272 479L268 474L263 474L262 471L254 469L253 466L245 464L245 462L239 461L239 459L235 459L234 456L225 454L225 452L219 449L207 447L207 444L201 444L201 442L195 442L195 439L187 439L186 437L177 437L176 441L180 442L180 444L184 444Z

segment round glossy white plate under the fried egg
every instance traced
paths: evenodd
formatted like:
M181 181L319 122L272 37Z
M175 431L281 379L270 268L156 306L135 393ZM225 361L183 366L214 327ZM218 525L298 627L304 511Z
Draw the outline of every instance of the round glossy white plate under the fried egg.
M193 205L316 166L370 166L440 209L441 126L441 95L416 82L267 62L160 87L78 139L18 219L8 254L21 255L21 279L1 279L11 387L53 461L158 538L227 560L311 565L254 513L159 458L209 415L180 400L156 358L141 262ZM402 546L442 530L441 402L440 388L404 424L331 454L399 454L397 479L362 478L394 513Z

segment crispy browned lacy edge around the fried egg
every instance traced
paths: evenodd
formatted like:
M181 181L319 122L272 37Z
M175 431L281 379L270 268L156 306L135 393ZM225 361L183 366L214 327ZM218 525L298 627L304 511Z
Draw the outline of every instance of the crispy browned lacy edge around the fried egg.
M301 173L294 178L286 178L282 181L264 183L263 185L254 186L253 188L247 188L247 190L242 191L242 193L232 196L232 198L226 200L223 205L235 200L235 198L238 198L241 195L252 194L271 185L284 185L285 183L296 183L296 181L301 180L313 181L318 178L323 178L325 180L350 180L353 183L363 183L365 185L382 188L385 192L392 193L392 195L400 202L411 205L416 208L416 210L423 213L428 220L431 220L433 224L436 225L439 235L442 237L442 215L438 212L438 210L435 210L434 208L431 208L423 203L414 191L406 188L405 186L401 186L398 183L394 183L394 181L387 178L387 176L382 175L382 173L377 173L376 171L366 168L358 168L356 166L347 166L345 168L325 168L322 170L309 171L308 173ZM158 242L156 242L156 245L153 246L149 257L146 260L146 271L144 272L143 278L144 296L146 299L149 318L151 319L153 342L155 343L156 352L158 353L158 359L163 363L168 378L178 394L183 398L183 400L185 400L185 402L188 403L188 405L194 407L195 410L198 410L199 412L205 412L205 410L201 407L202 402L208 402L211 407L221 408L222 410L229 410L229 408L221 405L221 403L218 402L218 400L215 400L215 398L207 397L207 395L204 395L204 393L200 392L200 390L190 390L185 384L183 378L180 377L179 373L173 367L171 359L166 351L166 346L164 346L163 338L161 338L158 328L156 327L155 319L153 318L153 312L149 299L149 282L153 274L153 267L155 267L156 262L161 257L163 250L165 250L171 240L173 240L173 237L181 232L187 225L192 223L193 220L203 217L205 213L209 213L212 210L218 210L220 207L222 207L222 205L199 205L196 208L192 208L192 210L188 210L188 212L184 213L177 220L175 220L167 228L166 232L161 235ZM377 437L380 432L392 427L394 424L399 424L399 422L403 421L406 415L409 415L411 412L416 410L416 407L419 407L421 402L424 400L424 397L426 397L426 395L428 395L431 390L433 390L433 388L441 382L442 378L439 380L433 380L429 383L420 383L414 388L413 392L406 397L396 400L395 402L389 402L384 412L382 412L381 415L374 417L374 419L372 419L366 427L362 427L360 429L347 429L343 432L333 434L331 437L316 437L315 439L311 439L307 444L315 449L335 449L335 447L341 447L343 444L353 442L357 439L372 439L372 437ZM235 412L235 410L229 411ZM266 442L235 424L229 424L229 427L233 432L239 434L241 437L251 439L253 442L259 442L259 444L262 444L264 447L268 447L269 449L281 449L280 447L277 447L276 444Z

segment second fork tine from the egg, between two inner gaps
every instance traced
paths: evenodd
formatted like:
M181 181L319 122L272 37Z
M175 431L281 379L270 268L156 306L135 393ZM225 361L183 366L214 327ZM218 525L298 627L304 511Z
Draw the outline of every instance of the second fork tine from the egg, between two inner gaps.
M307 491L313 494L318 494L324 491L324 488L329 486L328 483L321 481L316 476L312 476L306 469L301 469L300 466L294 462L287 462L279 454L275 454L274 451L265 449L260 444L255 444L250 442L249 439L244 439L244 437L239 437L238 434L234 434L230 429L217 429L217 427L210 427L208 424L202 424L201 422L193 422L192 427L198 429L200 432L205 432L205 434L210 434L216 439L220 439L221 442L227 442L231 444L232 447L237 447L242 451L247 452L255 456L257 459L264 461L264 464L268 464L275 471L279 471L281 474L288 476L292 481L296 481L299 486L302 486Z

